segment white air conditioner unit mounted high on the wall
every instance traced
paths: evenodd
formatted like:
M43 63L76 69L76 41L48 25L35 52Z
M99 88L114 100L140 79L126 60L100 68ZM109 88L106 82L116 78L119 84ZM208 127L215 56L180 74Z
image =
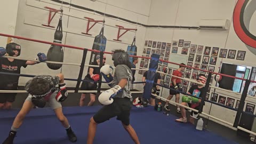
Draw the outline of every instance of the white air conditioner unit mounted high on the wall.
M230 25L228 19L201 19L199 22L200 29L221 29L227 30Z

